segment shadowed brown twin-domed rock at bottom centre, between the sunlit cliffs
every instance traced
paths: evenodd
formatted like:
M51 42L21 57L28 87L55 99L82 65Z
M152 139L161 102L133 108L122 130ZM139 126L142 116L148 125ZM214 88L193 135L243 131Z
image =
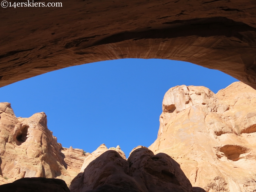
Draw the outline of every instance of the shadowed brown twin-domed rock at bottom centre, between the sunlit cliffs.
M108 150L93 160L71 182L71 192L204 192L193 188L180 165L164 153L147 148L124 160Z

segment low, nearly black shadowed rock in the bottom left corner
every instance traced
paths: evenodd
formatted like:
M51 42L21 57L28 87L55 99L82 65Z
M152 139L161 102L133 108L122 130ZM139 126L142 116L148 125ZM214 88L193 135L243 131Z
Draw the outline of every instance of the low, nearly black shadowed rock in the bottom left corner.
M12 183L0 185L1 192L70 192L61 179L22 178Z

